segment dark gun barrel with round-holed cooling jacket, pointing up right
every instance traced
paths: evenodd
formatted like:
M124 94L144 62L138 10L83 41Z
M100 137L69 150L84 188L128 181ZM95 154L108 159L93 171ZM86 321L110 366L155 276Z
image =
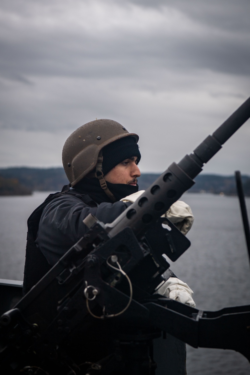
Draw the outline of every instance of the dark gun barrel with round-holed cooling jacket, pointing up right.
M172 163L154 183L111 224L106 224L109 236L115 236L129 226L138 238L165 213L194 183L193 178L250 117L248 98L214 133L186 155L178 164Z

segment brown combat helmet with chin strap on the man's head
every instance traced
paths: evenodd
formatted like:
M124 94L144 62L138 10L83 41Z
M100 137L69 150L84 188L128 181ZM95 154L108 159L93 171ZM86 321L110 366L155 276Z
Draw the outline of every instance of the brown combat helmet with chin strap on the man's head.
M82 178L97 177L105 193L112 199L102 172L102 149L118 139L133 136L136 143L139 136L129 133L116 121L102 118L90 121L76 129L63 146L63 168L71 186ZM91 173L92 172L92 173Z

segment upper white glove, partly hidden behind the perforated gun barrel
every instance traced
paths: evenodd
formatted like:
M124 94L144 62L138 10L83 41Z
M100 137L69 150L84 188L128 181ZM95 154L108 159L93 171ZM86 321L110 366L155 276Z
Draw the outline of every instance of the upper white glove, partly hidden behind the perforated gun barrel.
M144 193L145 190L139 190L136 193L125 196L125 198L120 199L123 202L134 203L139 196ZM187 234L193 225L193 213L188 204L183 201L176 201L169 207L168 211L162 215L162 217L167 217L173 224L180 229L181 233Z

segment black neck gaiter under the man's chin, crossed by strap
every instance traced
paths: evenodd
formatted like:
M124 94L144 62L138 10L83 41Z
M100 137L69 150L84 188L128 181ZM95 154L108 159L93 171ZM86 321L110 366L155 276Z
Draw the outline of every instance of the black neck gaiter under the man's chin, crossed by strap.
M133 186L127 184L111 184L108 181L106 181L106 184L117 201L120 201L121 198L124 198L127 195L138 192L138 185ZM89 195L90 198L98 204L102 202L113 203L101 188L99 180L97 178L84 177L75 185L75 189L79 193Z

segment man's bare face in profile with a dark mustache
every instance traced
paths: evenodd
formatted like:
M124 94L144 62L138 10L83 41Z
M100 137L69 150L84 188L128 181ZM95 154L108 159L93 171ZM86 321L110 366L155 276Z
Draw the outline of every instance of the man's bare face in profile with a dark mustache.
M137 156L123 160L109 171L104 179L112 184L136 185L141 172L136 164Z

